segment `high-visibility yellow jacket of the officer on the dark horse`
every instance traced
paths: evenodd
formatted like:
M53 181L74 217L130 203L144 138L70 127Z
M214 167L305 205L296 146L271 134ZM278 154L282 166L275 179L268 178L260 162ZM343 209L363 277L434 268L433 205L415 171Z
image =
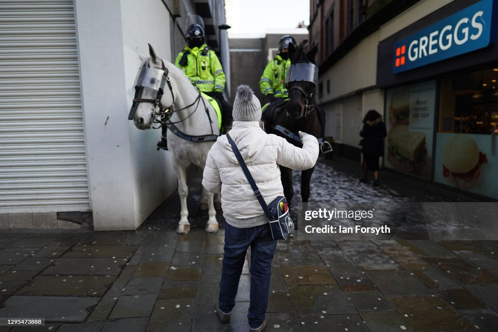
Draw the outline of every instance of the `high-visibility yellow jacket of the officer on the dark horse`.
M278 54L273 60L268 62L259 80L261 93L265 96L273 94L275 97L288 98L284 82L289 67L290 59L283 60Z

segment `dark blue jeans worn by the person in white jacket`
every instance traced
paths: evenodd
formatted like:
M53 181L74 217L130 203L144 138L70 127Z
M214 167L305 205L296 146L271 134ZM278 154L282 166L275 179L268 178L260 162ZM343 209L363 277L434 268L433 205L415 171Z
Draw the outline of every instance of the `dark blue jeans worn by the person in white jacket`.
M225 222L225 253L220 281L220 310L230 313L235 306L246 252L251 248L249 327L256 330L263 324L270 291L271 261L277 241L271 237L266 223L249 228L238 228Z

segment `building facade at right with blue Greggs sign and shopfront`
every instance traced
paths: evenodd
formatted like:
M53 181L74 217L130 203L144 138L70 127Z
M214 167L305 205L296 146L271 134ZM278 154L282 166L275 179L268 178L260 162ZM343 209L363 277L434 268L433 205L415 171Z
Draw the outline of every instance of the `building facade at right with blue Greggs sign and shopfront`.
M319 102L336 152L360 160L383 114L383 165L497 199L497 1L311 1Z

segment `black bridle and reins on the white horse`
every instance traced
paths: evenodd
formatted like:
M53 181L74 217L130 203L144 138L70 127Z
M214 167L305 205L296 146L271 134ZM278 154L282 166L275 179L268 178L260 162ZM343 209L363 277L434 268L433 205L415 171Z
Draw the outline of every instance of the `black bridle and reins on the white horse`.
M169 70L164 65L164 61L162 61L162 59L161 59L161 68L159 68L159 67L154 67L154 68L160 69L163 71L163 75L161 77L160 87L157 90L156 98L155 99L137 98L140 95L140 92L142 91L142 89L144 87L143 86L135 86L135 96L134 96L133 102L132 102L133 103L132 105L134 105L134 103L140 103L140 102L151 103L153 105L152 109L151 109L151 111L152 111L152 115L151 115L152 116L152 123L154 123L154 124L159 123L160 124L158 127L153 126L154 129L159 129L162 125L164 125L166 123L167 124L174 124L174 123L183 122L185 119L192 116L192 114L194 114L195 111L197 111L197 108L198 108L201 100L202 100L202 103L204 104L204 110L206 111L206 113L208 113L208 117L210 117L208 108L206 107L204 100L201 98L200 91L199 91L199 95L197 96L197 98L194 100L194 102L192 104L187 105L186 107L181 108L179 110L175 110L175 95L173 94L173 87L171 86L171 79L169 78L169 75L168 75ZM171 98L172 98L171 106L168 108L164 108L161 104L161 99L162 99L162 96L164 94L164 85L165 84L168 84L169 92L171 93ZM183 120L176 121L176 122L168 121L174 112L188 109L189 107L193 106L195 103L197 103L197 106L195 107L194 111L192 111L192 113L190 113L188 116L186 116ZM159 112L156 112L158 107L159 107ZM136 112L136 107L132 106L131 110L129 111L129 114L128 114L128 120L133 119L135 112ZM211 120L211 117L210 117L210 120Z

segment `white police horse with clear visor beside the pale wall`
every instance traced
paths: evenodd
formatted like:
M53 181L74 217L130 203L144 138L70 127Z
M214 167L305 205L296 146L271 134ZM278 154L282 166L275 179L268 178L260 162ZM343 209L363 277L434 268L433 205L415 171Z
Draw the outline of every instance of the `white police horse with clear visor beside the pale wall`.
M160 123L168 125L168 150L178 178L181 201L181 219L176 231L188 233L186 169L194 164L204 170L209 149L220 135L218 117L188 77L174 64L159 58L150 44L149 54L150 57L139 54L142 64L128 118L142 130L157 127ZM217 232L214 195L203 188L203 196L207 198L209 211L206 231Z

